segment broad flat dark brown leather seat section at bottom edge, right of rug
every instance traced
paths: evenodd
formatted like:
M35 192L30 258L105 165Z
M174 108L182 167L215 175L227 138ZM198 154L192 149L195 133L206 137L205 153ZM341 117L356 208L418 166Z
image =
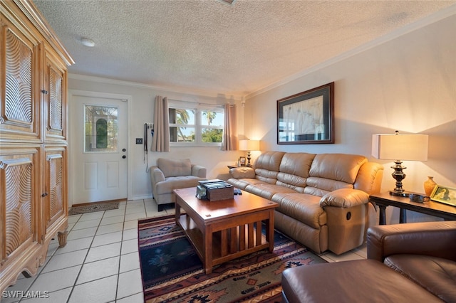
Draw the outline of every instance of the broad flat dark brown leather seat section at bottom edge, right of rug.
M442 302L377 260L293 267L282 272L288 302Z

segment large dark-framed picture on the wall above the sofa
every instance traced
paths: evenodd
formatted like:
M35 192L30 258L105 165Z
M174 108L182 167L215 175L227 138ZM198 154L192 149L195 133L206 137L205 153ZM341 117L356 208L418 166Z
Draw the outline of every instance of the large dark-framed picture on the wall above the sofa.
M277 100L277 144L334 143L334 83Z

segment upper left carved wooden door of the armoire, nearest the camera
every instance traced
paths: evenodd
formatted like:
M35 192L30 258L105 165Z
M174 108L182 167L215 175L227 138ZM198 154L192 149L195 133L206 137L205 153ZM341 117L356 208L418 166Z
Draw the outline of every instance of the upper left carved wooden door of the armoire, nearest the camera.
M39 42L25 36L12 23L1 20L0 140L40 140L38 83ZM4 141L4 140L2 140Z

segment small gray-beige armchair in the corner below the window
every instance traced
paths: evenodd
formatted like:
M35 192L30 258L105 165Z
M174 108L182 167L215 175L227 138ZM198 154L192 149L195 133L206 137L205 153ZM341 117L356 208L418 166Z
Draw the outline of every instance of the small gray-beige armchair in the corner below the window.
M176 202L174 189L197 186L201 180L207 180L206 169L192 164L190 159L157 159L157 165L150 167L150 181L158 211L162 211L165 204Z

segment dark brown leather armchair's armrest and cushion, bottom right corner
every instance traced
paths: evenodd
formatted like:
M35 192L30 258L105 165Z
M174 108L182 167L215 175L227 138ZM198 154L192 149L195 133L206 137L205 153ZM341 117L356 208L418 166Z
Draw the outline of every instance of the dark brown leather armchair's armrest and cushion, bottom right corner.
M368 230L368 259L456 302L456 221L374 226Z

